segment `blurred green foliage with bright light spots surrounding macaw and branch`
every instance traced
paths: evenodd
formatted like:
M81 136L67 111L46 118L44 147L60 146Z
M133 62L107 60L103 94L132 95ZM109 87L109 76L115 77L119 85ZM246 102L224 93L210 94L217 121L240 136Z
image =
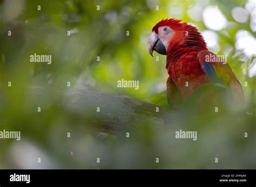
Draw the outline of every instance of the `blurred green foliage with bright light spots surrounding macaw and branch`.
M56 110L55 90L69 89L68 81L70 88L167 107L166 56L153 58L146 48L152 27L164 18L197 26L210 51L227 55L246 106L224 103L218 114L209 108L194 116L184 105L180 124L167 131L145 126L130 138L93 131ZM0 131L22 134L21 141L0 139L0 168L255 168L255 32L255 1L0 1ZM34 53L52 55L52 63L31 63ZM139 80L139 89L117 88L122 78ZM26 94L28 87L45 86L48 95ZM198 131L198 140L175 139L180 129Z

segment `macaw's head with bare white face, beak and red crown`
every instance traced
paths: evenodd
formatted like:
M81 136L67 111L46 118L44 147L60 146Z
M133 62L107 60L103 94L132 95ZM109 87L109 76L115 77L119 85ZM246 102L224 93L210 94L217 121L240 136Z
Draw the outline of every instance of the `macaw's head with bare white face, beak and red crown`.
M177 19L163 19L153 28L147 50L153 56L153 51L167 55L173 46L206 48L205 41L198 29Z

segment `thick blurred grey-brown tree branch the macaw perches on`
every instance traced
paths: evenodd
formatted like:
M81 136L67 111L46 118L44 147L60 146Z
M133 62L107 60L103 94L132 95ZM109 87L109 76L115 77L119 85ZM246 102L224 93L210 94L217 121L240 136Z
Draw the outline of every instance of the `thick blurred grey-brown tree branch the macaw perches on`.
M31 97L41 98L48 95L49 90L34 87ZM177 112L132 98L78 89L59 91L57 95L60 95L55 104L58 110L75 116L82 125L89 125L100 132L119 134L144 126L163 129L177 122ZM159 112L156 112L157 107Z

